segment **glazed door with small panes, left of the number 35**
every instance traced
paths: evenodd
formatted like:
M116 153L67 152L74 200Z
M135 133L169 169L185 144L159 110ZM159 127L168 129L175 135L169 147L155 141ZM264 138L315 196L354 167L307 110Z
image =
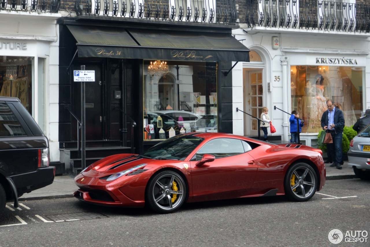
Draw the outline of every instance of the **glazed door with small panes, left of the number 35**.
M259 118L264 105L263 99L263 70L253 68L243 68L243 96L244 109L246 113ZM258 120L244 116L244 135L258 136Z

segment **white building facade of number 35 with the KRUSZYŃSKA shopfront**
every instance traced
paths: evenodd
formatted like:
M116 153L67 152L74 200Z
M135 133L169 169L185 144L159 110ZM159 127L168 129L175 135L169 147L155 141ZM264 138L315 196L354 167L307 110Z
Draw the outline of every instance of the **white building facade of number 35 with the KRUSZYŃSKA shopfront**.
M325 2L322 3L324 6ZM337 4L343 9L343 3ZM362 6L369 8L364 4L348 4L347 9L355 11L344 15L342 11L342 17L360 16ZM247 7L261 6L253 6L251 1ZM250 63L237 64L233 69L233 133L257 136L259 129L257 120L237 112L236 107L258 118L262 107L268 107L277 130L269 135L289 141L289 117L296 110L305 123L300 141L317 147L326 100L332 99L343 110L346 126L356 123L361 112L370 107L370 70L366 66L370 62L368 27L357 16L353 21L348 18L351 21L347 26L345 21L339 26L339 17L322 20L320 14L325 16L325 9L320 10L320 6L316 6L318 21L313 24L302 18L305 16L301 13L297 16L302 19L297 19L293 26L294 21L280 21L279 11L278 15L271 15L276 20L271 17L268 23L266 17L273 13L273 8L264 7L260 12L265 14L264 19L261 14L248 15L247 11L246 23L233 31L236 39L251 50ZM298 7L296 11L300 13L304 9ZM259 20L261 25L253 25L250 20Z

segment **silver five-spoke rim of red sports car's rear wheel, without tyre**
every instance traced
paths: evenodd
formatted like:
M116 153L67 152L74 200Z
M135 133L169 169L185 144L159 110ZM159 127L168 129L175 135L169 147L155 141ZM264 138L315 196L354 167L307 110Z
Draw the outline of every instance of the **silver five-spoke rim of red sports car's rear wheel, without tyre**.
M310 167L299 166L295 168L290 177L290 181L292 182L290 188L296 197L305 199L316 191L316 176L314 175L313 169Z

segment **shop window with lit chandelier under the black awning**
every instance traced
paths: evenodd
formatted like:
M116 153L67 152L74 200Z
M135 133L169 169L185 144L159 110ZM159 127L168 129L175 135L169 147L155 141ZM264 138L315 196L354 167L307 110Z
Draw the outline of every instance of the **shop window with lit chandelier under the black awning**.
M217 132L217 64L144 61L144 140Z

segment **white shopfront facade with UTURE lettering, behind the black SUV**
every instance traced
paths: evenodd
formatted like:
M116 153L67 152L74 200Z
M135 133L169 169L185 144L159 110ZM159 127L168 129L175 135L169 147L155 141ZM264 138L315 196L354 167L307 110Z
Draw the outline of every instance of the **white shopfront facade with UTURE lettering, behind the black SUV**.
M50 141L51 161L59 160L60 17L38 8L31 11L30 5L9 4L0 10L0 95L21 100Z

